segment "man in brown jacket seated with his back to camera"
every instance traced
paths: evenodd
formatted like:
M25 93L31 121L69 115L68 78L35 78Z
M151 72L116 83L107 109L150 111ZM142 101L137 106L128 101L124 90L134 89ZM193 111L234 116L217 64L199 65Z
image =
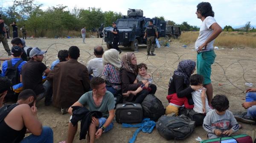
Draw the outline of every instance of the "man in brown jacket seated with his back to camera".
M53 105L61 108L61 114L67 113L67 109L90 89L88 70L77 61L79 56L79 48L71 46L69 60L58 63L47 76L52 83Z

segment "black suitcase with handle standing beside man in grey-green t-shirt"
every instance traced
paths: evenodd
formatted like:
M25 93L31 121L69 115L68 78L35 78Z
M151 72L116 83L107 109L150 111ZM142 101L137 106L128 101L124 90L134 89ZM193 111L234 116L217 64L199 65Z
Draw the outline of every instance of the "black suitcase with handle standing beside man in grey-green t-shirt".
M142 106L137 103L116 105L117 123L141 123L143 120Z

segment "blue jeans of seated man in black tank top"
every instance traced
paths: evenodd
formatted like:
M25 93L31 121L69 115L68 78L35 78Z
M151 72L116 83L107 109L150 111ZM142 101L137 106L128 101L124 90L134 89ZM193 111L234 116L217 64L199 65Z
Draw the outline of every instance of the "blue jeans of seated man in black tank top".
M29 135L21 140L20 143L53 143L53 132L48 126L43 126L40 136Z

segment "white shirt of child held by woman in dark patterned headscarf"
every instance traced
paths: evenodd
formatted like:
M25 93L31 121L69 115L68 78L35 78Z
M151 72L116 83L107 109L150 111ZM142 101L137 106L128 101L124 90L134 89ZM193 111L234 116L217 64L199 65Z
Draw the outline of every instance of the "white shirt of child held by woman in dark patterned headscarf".
M202 89L199 91L195 90L192 92L192 99L194 101L194 111L198 113L203 113L203 103L201 99ZM208 113L212 111L212 109L208 105L207 96L205 95L205 112Z

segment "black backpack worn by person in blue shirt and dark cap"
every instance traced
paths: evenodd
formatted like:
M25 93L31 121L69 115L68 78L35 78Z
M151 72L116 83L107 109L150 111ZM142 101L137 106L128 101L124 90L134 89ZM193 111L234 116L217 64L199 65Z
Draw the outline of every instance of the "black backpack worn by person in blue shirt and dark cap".
M12 85L20 83L20 73L18 71L18 66L22 63L23 60L17 61L17 63L12 66L12 59L7 60L8 67L6 69L5 76L8 77L12 81Z

